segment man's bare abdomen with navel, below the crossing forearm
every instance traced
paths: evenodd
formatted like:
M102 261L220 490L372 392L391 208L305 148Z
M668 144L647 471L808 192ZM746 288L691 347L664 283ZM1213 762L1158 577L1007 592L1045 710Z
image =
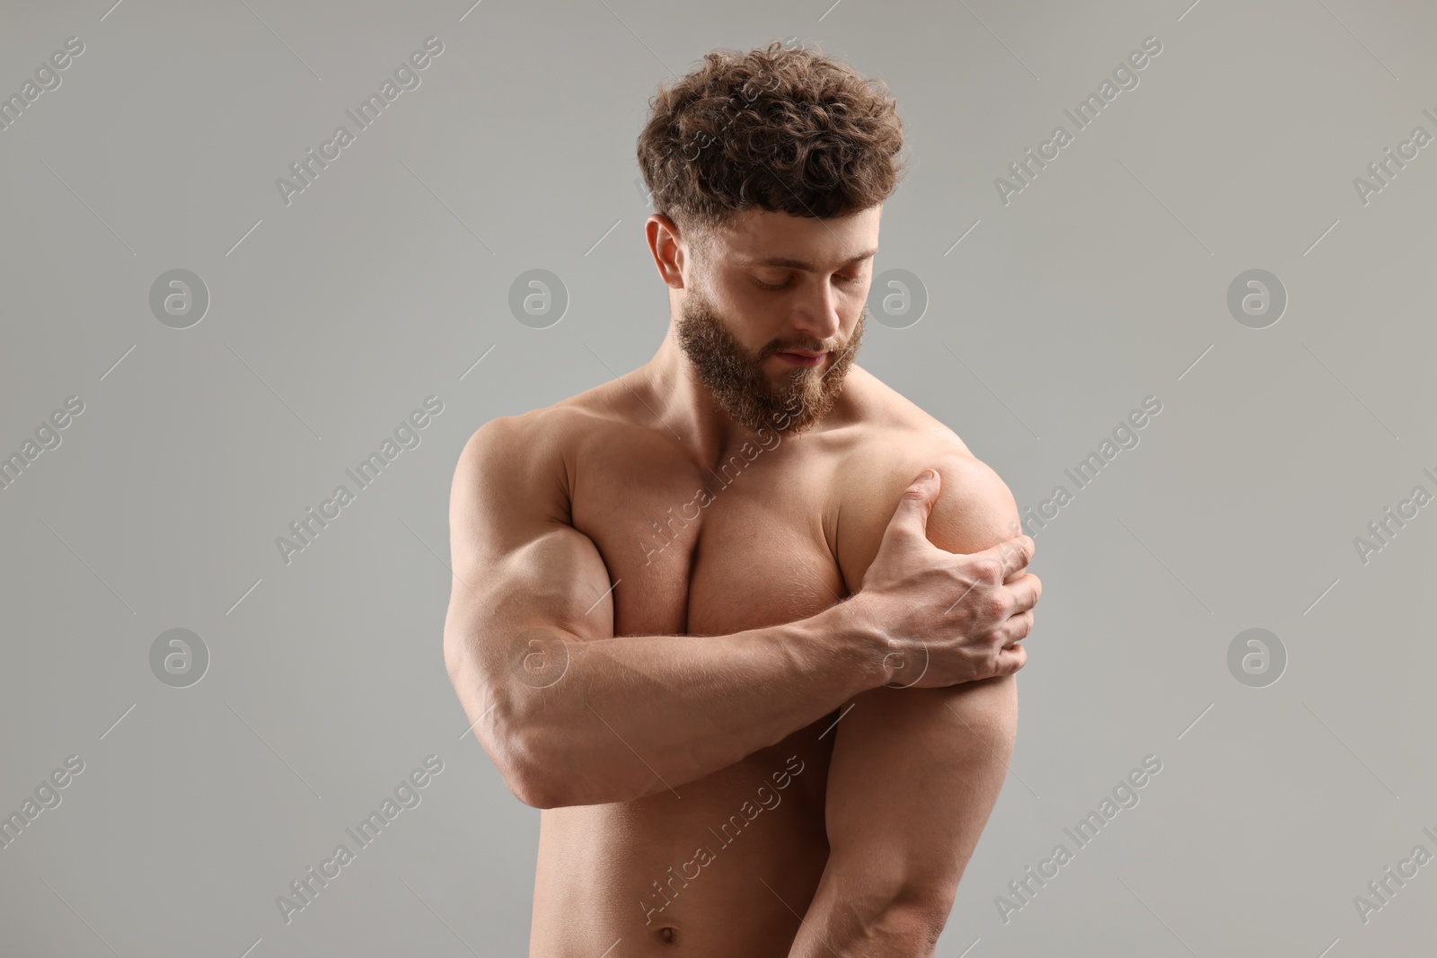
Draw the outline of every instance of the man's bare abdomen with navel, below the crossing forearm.
M785 958L828 862L833 718L637 801L546 809L530 955Z

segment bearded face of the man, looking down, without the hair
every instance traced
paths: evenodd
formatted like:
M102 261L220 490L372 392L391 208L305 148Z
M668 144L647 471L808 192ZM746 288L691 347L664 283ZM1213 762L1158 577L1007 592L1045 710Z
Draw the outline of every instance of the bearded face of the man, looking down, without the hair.
M881 210L753 211L688 244L678 343L734 422L798 434L833 406L862 342Z

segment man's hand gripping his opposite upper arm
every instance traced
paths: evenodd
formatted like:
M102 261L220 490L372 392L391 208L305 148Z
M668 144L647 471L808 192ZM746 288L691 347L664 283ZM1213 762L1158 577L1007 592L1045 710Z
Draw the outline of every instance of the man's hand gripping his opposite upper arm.
M1042 583L1023 569L1038 546L1020 534L967 556L938 549L927 526L940 487L937 470L924 470L904 490L849 600L882 635L888 685L941 688L1027 662L1017 642L1033 628Z

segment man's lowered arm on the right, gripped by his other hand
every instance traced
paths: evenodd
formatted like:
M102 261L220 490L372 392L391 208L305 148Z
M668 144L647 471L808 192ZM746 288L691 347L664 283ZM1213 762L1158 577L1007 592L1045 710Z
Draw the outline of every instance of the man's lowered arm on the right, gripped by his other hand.
M987 465L967 455L933 465L943 481L928 516L935 546L973 553L1022 531L1012 493ZM852 702L828 774L829 859L789 958L923 958L1003 787L1016 676L878 688Z

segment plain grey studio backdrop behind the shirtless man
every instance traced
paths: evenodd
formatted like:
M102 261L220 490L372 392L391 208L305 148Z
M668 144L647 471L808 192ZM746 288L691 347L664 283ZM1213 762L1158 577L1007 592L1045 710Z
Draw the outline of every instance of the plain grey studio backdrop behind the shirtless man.
M897 95L859 363L1038 541L938 954L1430 948L1437 14L1188 1L4 3L0 952L526 954L539 811L441 656L453 467L652 355L647 101L775 39Z

